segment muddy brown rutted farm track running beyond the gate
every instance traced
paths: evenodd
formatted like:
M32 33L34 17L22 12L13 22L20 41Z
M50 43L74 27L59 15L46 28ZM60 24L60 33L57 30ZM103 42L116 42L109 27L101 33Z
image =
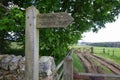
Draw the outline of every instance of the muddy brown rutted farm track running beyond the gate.
M110 69L114 74L119 74L120 75L120 66L118 66L115 63L112 63L108 60L105 60L101 57L98 57L96 55L91 55L91 54L83 54L79 53L78 54L79 58L83 62L86 72L88 73L105 73L103 71L102 67L97 65L96 62L106 66L108 69Z

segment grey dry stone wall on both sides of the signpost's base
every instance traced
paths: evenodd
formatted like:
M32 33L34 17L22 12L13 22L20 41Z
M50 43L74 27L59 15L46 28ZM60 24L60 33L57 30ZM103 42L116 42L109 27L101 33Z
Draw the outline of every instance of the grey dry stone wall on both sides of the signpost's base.
M56 67L53 57L42 56L39 67L40 80L53 80ZM0 80L25 80L25 57L0 55Z

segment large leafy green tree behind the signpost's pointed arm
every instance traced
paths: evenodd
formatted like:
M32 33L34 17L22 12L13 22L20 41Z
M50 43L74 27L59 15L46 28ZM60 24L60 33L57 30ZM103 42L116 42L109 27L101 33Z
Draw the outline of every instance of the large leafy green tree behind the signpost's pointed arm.
M11 0L7 0L9 2ZM105 27L105 23L113 22L120 13L119 0L12 0L14 4L27 8L31 4L39 9L40 13L67 12L74 17L74 22L67 28L40 29L40 53L52 55L56 58L64 56L70 44L76 43L85 31L98 31ZM7 6L4 0L1 4ZM15 9L16 10L16 9ZM14 11L14 10L13 10ZM10 26L22 24L17 32L23 28L24 11L18 23L11 23ZM11 10L9 10L11 12ZM9 15L11 15L10 13ZM19 13L18 13L19 14ZM5 17L5 16L4 16ZM1 20L5 19L2 18ZM12 20L14 16L11 16ZM16 17L17 18L17 17ZM5 21L5 20L4 20ZM23 21L24 22L24 21ZM0 25L3 26L3 25ZM5 26L5 24L4 24ZM16 26L14 26L16 27ZM7 29L7 28L6 28ZM5 30L6 30L5 29ZM8 30L6 30L8 32ZM12 29L15 31L15 28ZM16 32L16 33L17 33ZM22 33L24 34L24 33ZM18 35L19 36L19 35ZM21 36L19 37L20 39ZM23 39L22 39L23 40ZM60 56L59 56L60 55Z

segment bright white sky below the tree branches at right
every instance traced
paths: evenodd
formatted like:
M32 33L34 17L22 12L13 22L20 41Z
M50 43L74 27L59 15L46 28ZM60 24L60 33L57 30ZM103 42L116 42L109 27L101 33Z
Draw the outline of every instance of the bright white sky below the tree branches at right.
M100 29L97 33L84 33L80 42L120 42L120 15L115 22L107 23L105 26L106 28Z

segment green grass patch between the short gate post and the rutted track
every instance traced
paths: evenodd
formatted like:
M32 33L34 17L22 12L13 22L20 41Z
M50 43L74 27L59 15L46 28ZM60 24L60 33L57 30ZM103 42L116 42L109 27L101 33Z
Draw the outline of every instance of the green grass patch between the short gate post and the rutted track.
M74 68L77 69L78 72L85 72L85 68L80 59L78 58L77 54L72 54L72 58Z

